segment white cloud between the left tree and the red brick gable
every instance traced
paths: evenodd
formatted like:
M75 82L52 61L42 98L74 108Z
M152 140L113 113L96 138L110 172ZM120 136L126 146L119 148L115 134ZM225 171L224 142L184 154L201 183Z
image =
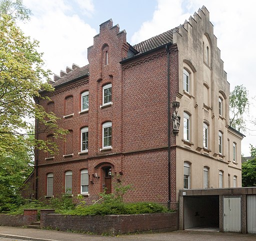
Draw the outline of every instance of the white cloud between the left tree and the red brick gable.
M70 6L63 0L26 0L24 4L34 13L31 20L21 24L26 35L40 41L47 68L59 74L60 69L76 63L87 64L87 47L92 45L95 29L78 15L67 15Z

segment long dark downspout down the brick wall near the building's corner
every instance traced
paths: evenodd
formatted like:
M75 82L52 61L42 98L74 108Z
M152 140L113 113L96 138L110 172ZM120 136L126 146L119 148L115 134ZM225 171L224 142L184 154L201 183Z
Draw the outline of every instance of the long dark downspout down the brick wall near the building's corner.
M165 45L167 52L167 116L168 116L168 209L170 209L170 56L167 44Z

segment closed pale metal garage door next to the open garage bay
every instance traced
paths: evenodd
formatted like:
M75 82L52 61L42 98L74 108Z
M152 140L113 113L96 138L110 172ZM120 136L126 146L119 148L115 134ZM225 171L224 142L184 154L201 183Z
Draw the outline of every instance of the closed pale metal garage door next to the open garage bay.
M232 196L223 199L223 229L224 232L241 231L241 197Z

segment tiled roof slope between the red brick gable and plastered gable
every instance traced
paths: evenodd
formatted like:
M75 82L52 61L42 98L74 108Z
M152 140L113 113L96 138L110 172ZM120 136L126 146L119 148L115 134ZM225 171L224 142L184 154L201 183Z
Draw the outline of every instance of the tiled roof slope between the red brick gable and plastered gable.
M166 32L163 32L163 33L159 34L159 35L156 35L156 36L151 37L147 40L139 42L139 43L133 45L133 47L139 53L143 53L143 52L149 51L151 49L154 49L156 47L159 47L163 44L172 43L172 35L173 35L173 32L174 32L174 29L177 29L177 28L170 29Z

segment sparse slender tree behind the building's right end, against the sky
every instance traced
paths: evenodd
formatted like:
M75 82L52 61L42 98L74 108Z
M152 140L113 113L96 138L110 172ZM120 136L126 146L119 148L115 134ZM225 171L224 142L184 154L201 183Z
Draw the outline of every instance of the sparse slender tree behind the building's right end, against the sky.
M241 84L236 85L229 95L230 126L240 130L245 130L244 113L248 111L249 100L248 91Z

